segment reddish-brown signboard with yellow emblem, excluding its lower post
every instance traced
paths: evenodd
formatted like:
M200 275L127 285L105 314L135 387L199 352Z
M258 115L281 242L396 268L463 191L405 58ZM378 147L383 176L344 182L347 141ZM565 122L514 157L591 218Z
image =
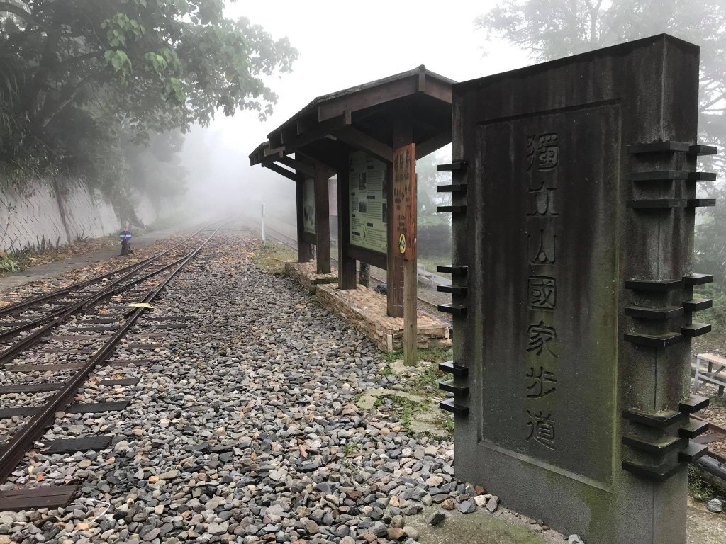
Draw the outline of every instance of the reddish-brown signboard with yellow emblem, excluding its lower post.
M393 153L393 239L404 260L416 260L416 144Z

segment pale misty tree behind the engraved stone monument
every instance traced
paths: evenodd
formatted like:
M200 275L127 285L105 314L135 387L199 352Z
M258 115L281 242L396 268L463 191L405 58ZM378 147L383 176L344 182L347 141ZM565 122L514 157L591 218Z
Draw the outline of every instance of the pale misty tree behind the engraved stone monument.
M699 137L716 144L707 162L726 175L726 2L722 0L505 0L478 17L476 28L505 38L544 61L669 33L701 46ZM710 165L710 164L709 164ZM703 186L726 199L723 184ZM726 218L707 208L696 231L696 266L726 284Z

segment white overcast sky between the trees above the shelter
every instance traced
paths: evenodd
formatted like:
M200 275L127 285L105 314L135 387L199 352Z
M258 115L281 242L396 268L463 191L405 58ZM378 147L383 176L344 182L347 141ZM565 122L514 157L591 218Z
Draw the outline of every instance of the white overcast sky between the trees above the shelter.
M205 141L213 143L210 160L216 168L209 172L213 179L204 184L206 191L269 180L272 173L266 169L250 169L248 154L267 139L267 133L316 96L422 64L455 81L529 64L523 51L487 41L483 31L475 30L474 20L496 4L493 0L369 0L355 4L227 0L227 4L228 17L248 17L274 38L287 36L300 56L293 73L269 81L279 101L265 122L258 120L256 112L238 112L233 118L219 115L213 122Z

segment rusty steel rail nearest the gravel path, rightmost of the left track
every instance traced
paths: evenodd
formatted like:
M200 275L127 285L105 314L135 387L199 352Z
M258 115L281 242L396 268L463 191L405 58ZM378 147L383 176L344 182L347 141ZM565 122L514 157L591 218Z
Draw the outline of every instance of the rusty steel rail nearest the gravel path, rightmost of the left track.
M203 249L203 247L208 244L217 231L219 231L219 228L217 228L211 236L197 247L197 249L189 252L189 254L185 257L182 257L179 260L179 265L177 265L176 269L165 279L160 281L158 286L150 290L147 296L144 297L144 302L152 302L161 290L168 285L171 279L174 278L176 273L179 273L181 268L183 268L189 260L194 258ZM93 355L93 357L88 360L83 368L80 368L76 374L73 374L62 389L49 398L48 402L43 405L41 411L33 416L33 418L30 419L30 421L28 421L28 423L15 434L7 445L7 448L4 448L4 450L0 452L0 482L5 482L7 480L7 478L12 474L12 471L15 470L17 463L20 463L25 456L25 453L33 447L33 442L42 437L46 432L46 429L48 429L52 425L52 422L55 421L55 413L57 411L61 411L62 408L65 408L65 406L73 400L73 395L76 395L76 391L79 387L81 387L83 382L86 381L86 378L89 374L91 374L91 371L110 357L118 342L121 341L126 332L134 326L134 323L136 323L139 317L141 317L146 310L147 308L136 308L134 313L126 319L126 323L123 324L121 329L118 329L113 337L108 339L105 345L103 345Z

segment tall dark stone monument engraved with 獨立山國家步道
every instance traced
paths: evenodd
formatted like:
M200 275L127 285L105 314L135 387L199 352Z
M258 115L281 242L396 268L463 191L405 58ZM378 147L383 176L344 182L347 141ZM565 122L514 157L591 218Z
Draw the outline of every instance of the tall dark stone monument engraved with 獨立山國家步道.
M684 544L698 47L459 83L453 111L457 477L588 544Z

